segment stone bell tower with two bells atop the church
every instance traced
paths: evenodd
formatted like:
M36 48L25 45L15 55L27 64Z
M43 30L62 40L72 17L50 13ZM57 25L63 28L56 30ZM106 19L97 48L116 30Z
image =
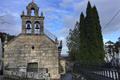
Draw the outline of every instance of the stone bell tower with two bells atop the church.
M44 34L44 16L42 12L41 15L39 15L39 7L37 4L32 1L26 9L26 13L23 11L21 15L22 34Z

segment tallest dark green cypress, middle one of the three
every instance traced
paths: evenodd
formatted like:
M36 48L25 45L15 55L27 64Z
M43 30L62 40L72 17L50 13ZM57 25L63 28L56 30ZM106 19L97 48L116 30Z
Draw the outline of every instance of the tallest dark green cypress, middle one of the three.
M94 29L93 29L93 18L92 18L92 7L90 2L88 2L87 5L87 10L86 10L86 18L85 18L85 31L86 31L86 43L87 43L87 48L86 51L88 51L87 56L86 56L86 63L91 63L95 60L95 55L93 51L95 52L94 49ZM84 34L84 33L83 33Z

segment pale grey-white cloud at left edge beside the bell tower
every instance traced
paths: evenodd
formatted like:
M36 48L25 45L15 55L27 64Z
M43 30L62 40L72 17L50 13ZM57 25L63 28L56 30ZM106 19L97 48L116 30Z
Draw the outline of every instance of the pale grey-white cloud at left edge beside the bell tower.
M0 32L6 32L9 34L20 33L20 25L17 26L15 16L11 14L5 14L0 17Z

